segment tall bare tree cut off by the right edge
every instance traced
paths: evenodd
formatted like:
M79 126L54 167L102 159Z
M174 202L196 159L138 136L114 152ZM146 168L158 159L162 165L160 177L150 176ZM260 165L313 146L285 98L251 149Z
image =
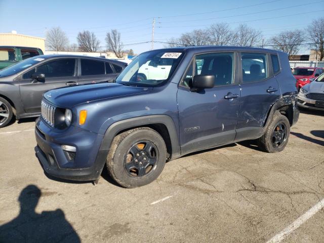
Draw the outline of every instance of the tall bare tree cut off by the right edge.
M316 59L322 61L324 59L324 18L313 20L306 31L310 41L314 43L311 48L316 52Z

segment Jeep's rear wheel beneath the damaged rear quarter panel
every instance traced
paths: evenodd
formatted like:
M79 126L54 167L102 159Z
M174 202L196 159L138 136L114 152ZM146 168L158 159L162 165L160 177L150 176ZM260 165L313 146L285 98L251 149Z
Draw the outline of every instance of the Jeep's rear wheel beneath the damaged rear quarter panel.
M288 143L290 123L285 115L275 112L264 135L259 138L259 147L269 153L284 150Z

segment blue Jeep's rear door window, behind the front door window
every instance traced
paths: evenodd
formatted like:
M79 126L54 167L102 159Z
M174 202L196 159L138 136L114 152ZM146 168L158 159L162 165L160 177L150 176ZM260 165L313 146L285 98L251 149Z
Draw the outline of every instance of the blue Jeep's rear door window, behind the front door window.
M269 77L267 68L267 54L242 53L243 83L256 82Z

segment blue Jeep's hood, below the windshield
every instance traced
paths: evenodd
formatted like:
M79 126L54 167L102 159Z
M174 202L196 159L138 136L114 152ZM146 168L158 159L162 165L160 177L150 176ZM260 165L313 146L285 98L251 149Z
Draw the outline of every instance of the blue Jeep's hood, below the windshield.
M137 95L147 93L150 90L152 90L152 88L131 87L115 83L105 83L50 90L44 94L44 97L57 106L71 108L85 102Z

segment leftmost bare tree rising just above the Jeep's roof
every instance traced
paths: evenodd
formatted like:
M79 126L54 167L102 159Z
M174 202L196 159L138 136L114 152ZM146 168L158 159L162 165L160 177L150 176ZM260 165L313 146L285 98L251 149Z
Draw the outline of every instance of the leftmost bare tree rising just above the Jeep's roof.
M179 41L183 46L205 46L209 44L209 36L206 30L195 29L182 34Z

